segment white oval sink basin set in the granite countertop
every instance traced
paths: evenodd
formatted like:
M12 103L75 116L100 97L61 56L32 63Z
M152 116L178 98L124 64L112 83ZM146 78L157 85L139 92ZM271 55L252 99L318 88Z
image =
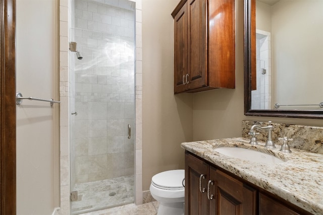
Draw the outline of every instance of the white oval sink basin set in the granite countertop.
M268 155L266 153L239 148L239 147L219 147L214 149L214 151L229 157L257 162L257 163L278 164L278 163L285 162L279 158L276 158L273 155Z

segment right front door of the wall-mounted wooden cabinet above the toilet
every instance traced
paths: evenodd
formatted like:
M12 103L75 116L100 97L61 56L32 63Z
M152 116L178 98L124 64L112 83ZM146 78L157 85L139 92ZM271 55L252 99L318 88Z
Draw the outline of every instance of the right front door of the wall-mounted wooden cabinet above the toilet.
M188 1L188 90L207 85L206 1Z

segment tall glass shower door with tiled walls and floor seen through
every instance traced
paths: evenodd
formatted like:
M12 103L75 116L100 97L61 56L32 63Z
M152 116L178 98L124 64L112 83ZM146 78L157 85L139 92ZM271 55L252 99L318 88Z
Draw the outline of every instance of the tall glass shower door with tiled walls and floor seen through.
M71 213L134 202L135 3L72 1ZM77 198L76 198L77 194Z

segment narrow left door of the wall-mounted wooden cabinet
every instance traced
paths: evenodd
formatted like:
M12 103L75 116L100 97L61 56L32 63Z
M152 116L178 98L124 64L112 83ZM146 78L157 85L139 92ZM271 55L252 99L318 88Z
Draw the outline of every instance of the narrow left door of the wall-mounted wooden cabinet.
M186 90L187 74L187 3L174 18L174 93Z

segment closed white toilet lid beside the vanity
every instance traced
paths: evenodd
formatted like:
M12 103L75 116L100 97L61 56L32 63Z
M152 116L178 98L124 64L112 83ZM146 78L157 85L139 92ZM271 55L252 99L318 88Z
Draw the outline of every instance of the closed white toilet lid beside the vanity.
M170 170L154 175L151 183L160 189L182 190L184 178L185 170Z

